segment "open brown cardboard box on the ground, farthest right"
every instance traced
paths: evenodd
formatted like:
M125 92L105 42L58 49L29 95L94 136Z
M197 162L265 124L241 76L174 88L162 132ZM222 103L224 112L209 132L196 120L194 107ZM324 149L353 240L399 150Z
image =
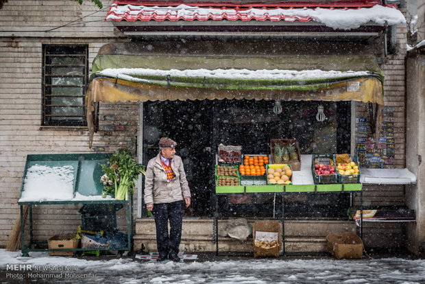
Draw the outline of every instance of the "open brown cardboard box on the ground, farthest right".
M337 259L361 259L363 241L354 233L337 233L326 236L328 251Z

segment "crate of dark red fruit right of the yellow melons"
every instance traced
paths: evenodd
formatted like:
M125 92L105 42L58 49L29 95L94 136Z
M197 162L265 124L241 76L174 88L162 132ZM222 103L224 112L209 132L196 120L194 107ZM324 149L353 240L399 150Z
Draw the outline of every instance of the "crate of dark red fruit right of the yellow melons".
M332 161L332 163L330 163ZM320 167L317 168L316 165L323 164L326 166L326 169L321 169L322 171L330 171L330 167L333 168L335 174L317 174L317 170L320 171ZM330 166L328 168L328 166ZM311 158L311 174L313 175L313 180L315 185L330 185L337 183L337 169L335 168L335 161L333 154L313 154Z

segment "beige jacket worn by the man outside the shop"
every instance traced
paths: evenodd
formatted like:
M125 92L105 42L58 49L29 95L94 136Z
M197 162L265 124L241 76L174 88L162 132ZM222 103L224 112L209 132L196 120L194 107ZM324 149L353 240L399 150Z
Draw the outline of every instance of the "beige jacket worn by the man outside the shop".
M160 154L151 158L147 163L145 174L146 204L170 203L191 197L180 156L174 156L171 159L171 169L173 169L175 177L169 181L165 169L162 167Z

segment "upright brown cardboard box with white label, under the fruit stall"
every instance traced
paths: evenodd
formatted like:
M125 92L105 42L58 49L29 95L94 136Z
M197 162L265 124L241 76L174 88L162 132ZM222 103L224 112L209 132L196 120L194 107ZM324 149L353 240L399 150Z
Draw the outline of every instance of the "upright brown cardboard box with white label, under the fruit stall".
M282 248L282 223L278 221L256 221L252 227L254 239L254 257L279 257ZM277 246L262 248L257 241L277 241Z

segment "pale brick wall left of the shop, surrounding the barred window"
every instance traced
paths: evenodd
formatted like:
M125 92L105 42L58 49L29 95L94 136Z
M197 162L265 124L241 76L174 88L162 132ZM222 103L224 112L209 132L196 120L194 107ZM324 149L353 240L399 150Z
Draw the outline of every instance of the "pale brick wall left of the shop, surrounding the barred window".
M106 8L110 2L103 1ZM91 64L99 47L119 40L112 25L104 21L106 12L97 10L91 1L83 5L75 1L8 1L0 10L0 247L7 244L19 214L17 201L27 154L93 152L88 148L85 127L41 127L41 74L42 44L87 44ZM53 27L60 28L45 32ZM101 114L112 113L116 119L108 123L125 125L125 130L119 137L97 135L95 145L107 145L108 152L119 147L135 150L137 110L137 104L102 107ZM80 206L34 206L34 238L75 233L81 224ZM125 209L118 211L117 220L119 229L125 230Z

